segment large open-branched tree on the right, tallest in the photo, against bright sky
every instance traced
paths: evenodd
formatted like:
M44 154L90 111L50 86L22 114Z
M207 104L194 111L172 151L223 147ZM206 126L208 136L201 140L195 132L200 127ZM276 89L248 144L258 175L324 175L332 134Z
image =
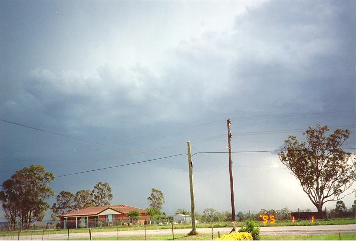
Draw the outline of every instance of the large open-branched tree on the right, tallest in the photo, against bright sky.
M341 200L355 178L354 154L342 150L349 130L336 129L325 136L327 126L309 127L303 134L306 141L299 142L289 136L279 153L281 162L300 182L303 191L322 215L326 202Z

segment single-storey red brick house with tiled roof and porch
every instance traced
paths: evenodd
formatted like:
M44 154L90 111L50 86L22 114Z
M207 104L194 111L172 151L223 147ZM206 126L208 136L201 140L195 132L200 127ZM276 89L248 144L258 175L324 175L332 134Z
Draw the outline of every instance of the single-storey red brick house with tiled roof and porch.
M137 210L140 217L129 217L128 212ZM61 228L100 227L121 224L143 224L149 220L145 209L127 205L85 207L58 215Z

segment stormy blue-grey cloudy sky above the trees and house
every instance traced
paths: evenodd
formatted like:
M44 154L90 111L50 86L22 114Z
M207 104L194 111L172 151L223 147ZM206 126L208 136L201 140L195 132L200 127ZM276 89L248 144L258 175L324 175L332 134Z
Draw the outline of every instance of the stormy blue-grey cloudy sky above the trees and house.
M0 121L0 182L31 165L59 176L184 154L188 141L226 152L230 118L232 151L270 151L232 155L235 209L314 209L274 151L317 124L349 129L355 148L355 13L354 1L0 0L0 118L47 131ZM230 210L228 154L192 160L196 210ZM100 181L113 205L146 208L155 188L167 214L190 210L187 155L50 186Z

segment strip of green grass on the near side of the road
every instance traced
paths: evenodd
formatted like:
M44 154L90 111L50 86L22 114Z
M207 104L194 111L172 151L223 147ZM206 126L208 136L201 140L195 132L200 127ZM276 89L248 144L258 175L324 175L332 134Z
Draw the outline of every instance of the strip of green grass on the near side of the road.
M218 237L213 235L214 239ZM356 233L340 234L341 240L355 240ZM211 234L174 234L174 239L179 240L211 240ZM92 239L117 240L117 237L93 237ZM143 240L144 236L119 236L119 240ZM339 234L325 235L261 235L261 240L338 240ZM76 238L76 240L88 240L88 238ZM172 235L147 235L146 240L172 240Z

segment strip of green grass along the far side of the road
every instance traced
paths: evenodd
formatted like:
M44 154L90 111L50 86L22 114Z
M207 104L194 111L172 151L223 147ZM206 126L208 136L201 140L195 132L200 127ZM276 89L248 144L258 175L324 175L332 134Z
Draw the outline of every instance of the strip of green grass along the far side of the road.
M262 221L256 221L256 226L306 226L306 225L336 225L336 224L355 224L356 219L354 218L334 218L334 219L320 219L320 220L314 220L312 223L310 220L301 220L301 221L295 221L292 223L291 221L279 221L276 220L275 223L270 224L266 223L263 224ZM237 227L241 227L245 224L245 222L236 222ZM197 225L197 228L204 228L204 227L211 227L211 223L200 223ZM220 222L220 223L213 223L213 227L231 227L231 222ZM124 230L143 230L144 226L143 225L132 225L132 226L118 226L119 231L124 231ZM146 225L146 229L170 229L171 225ZM178 228L192 228L191 224L176 224L173 225L174 229ZM106 232L106 231L116 231L117 226L110 226L110 227L95 227L92 228L92 232ZM46 235L47 234L56 234L56 233L67 233L67 229L51 229L51 230L45 230ZM78 232L89 232L88 228L73 228L70 229L70 233L78 233ZM25 230L20 232L20 236L22 235L36 235L36 234L42 234L42 230ZM17 236L18 231L12 231L12 232L0 232L0 236Z

